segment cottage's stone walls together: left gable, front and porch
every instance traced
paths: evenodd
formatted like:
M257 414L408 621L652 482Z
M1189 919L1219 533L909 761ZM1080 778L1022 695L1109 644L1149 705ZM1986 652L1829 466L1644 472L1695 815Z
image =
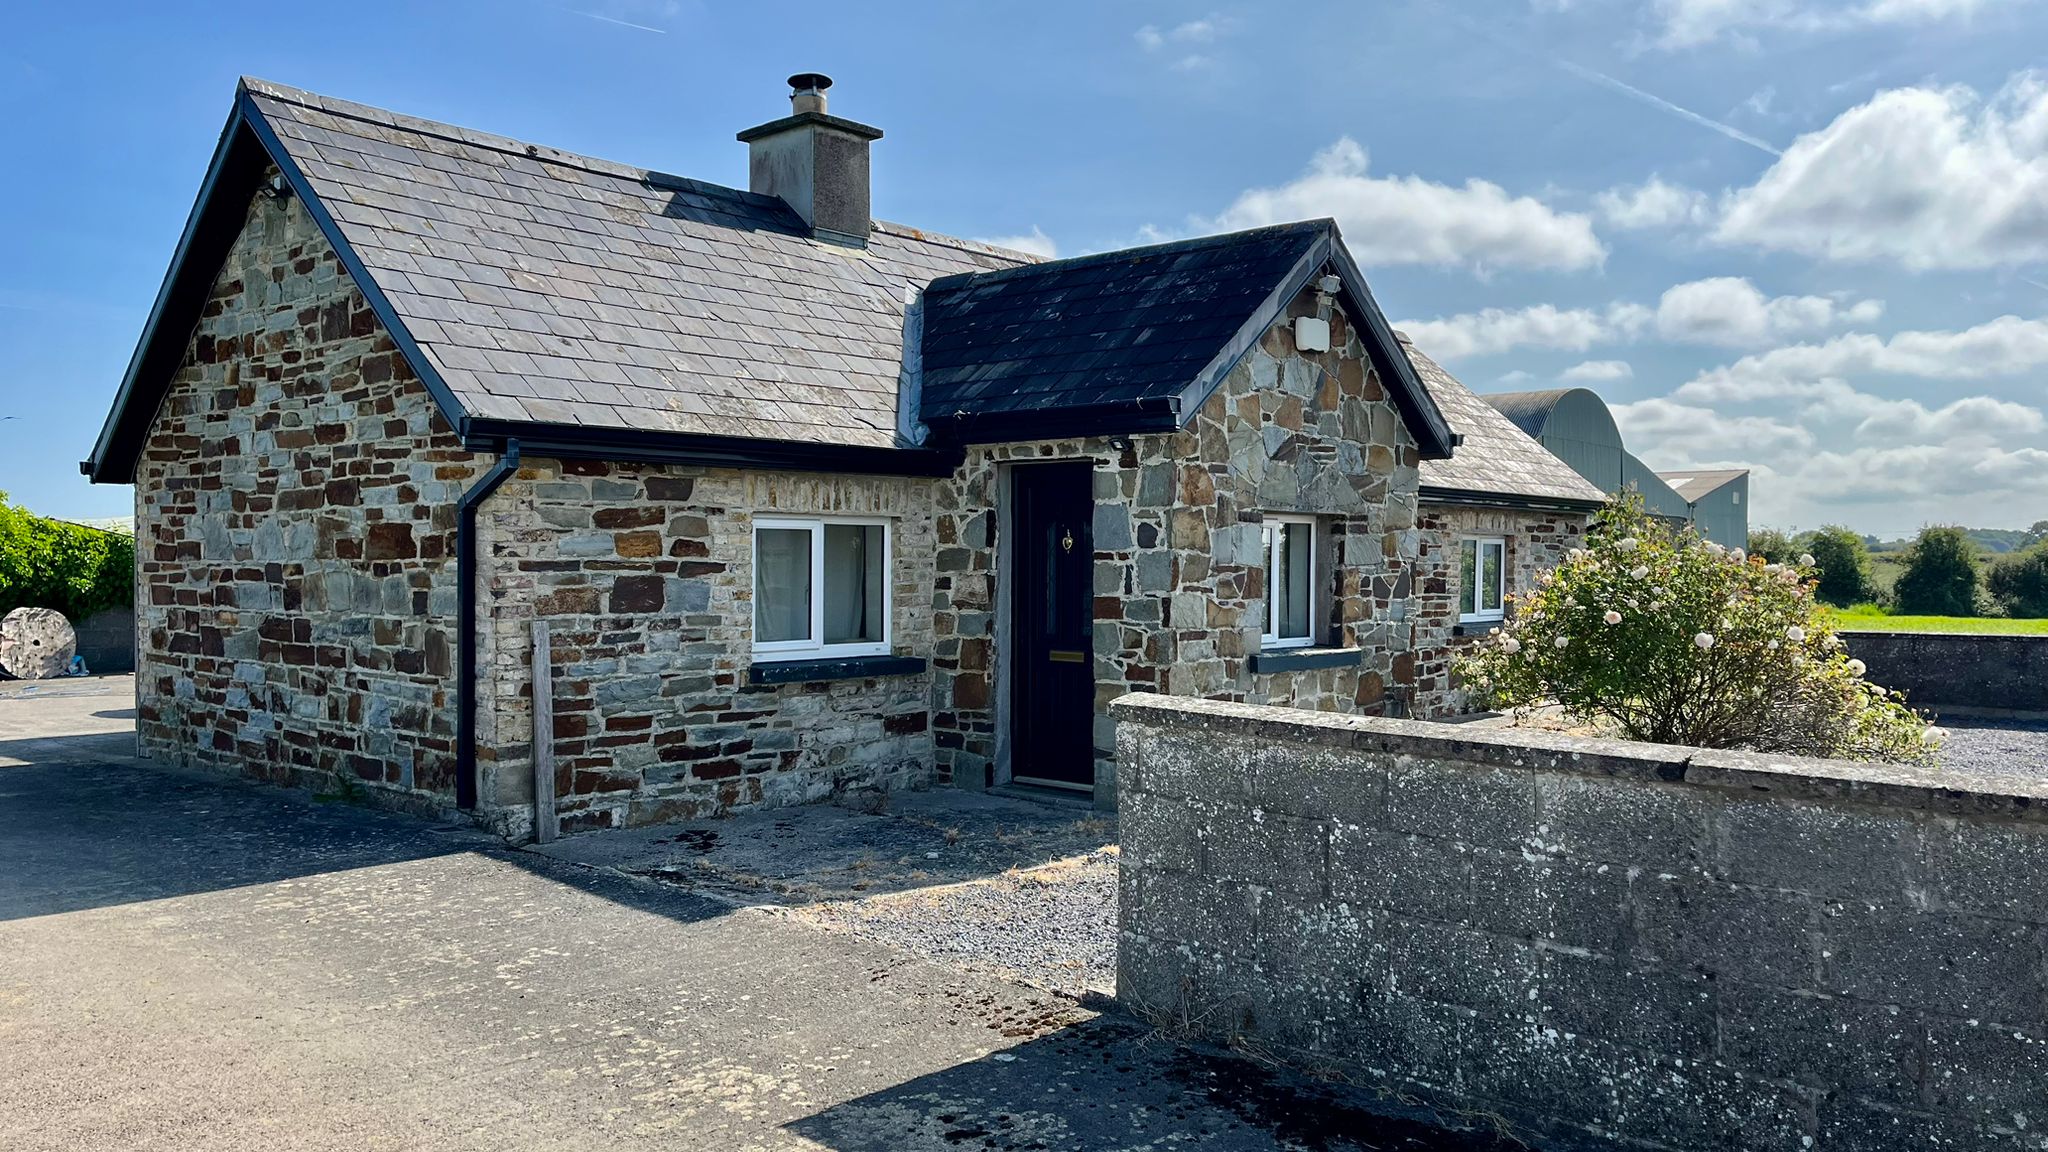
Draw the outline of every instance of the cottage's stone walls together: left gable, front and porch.
M1329 320L1329 353L1292 346L1309 314ZM1348 318L1307 291L1188 428L1128 451L977 447L946 480L526 459L479 515L479 816L530 828L535 619L555 637L567 830L991 781L1001 476L1049 459L1096 463L1098 801L1126 691L1442 707L1411 652L1413 572L1436 556L1415 441ZM457 506L487 465L305 207L254 199L137 469L143 752L446 808ZM889 519L891 648L930 670L750 685L764 512ZM1356 662L1251 670L1266 512L1321 519L1319 615Z

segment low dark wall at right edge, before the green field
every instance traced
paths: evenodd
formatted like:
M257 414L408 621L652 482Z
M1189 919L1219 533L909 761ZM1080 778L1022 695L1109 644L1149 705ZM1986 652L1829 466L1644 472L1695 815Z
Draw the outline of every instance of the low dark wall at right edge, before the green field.
M1843 631L1870 678L1913 707L2048 717L2048 635Z

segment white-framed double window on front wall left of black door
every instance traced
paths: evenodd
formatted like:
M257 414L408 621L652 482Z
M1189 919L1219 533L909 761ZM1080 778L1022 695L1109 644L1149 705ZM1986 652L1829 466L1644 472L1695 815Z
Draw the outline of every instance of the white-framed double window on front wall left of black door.
M754 519L754 654L889 654L889 523Z

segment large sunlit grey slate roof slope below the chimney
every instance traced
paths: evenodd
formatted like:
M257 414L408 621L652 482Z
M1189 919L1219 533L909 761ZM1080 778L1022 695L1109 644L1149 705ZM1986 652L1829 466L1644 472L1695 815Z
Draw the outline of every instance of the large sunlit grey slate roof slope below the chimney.
M252 105L463 408L889 447L903 299L1022 260L260 80Z

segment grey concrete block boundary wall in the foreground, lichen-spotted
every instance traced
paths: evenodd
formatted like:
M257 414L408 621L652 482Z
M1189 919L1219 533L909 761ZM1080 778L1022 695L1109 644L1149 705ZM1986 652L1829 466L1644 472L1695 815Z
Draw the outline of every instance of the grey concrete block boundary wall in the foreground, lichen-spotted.
M1112 711L1141 1015L1550 1148L2048 1148L2048 785Z

